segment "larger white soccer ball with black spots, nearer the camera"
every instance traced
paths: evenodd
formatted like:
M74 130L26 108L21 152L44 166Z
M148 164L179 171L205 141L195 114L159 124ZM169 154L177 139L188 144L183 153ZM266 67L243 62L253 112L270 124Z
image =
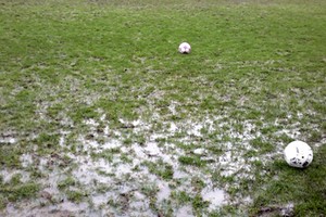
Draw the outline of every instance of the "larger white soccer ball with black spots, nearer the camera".
M284 150L284 157L288 165L304 168L312 163L313 152L305 142L293 141L290 142Z

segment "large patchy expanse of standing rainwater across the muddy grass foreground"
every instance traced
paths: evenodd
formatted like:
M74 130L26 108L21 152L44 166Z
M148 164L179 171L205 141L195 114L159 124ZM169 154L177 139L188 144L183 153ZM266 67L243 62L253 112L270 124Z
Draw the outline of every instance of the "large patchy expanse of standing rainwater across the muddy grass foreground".
M175 105L172 104L170 110L174 113ZM255 132L255 126L251 123L243 123L243 130L235 131L224 119L224 117L206 117L200 123L163 122L164 130L155 132L152 131L154 127L151 124L142 120L121 119L122 125L128 126L127 135L123 131L125 129L110 129L110 123L106 123L105 116L98 122L88 119L85 122L89 127L86 135L92 136L79 135L77 137L78 150L75 153L63 153L70 158L70 163L64 167L55 164L57 159L51 156L36 156L32 153L21 155L23 168L34 166L46 175L45 178L37 180L41 186L41 192L35 200L8 204L2 215L158 216L154 212L156 208L163 214L164 210L172 209L174 216L195 216L191 203L184 204L176 200L175 195L180 192L190 197L200 195L202 201L209 204L206 212L218 210L222 206L230 204L227 194L228 186L224 189L218 188L218 183L214 183L212 179L212 173L218 171L222 177L236 176L238 180L248 178L251 170L250 161L260 159L242 157L243 153L252 149L249 141L261 136ZM100 125L104 126L102 131L97 130ZM220 144L222 152L218 155L214 155L205 148L205 141L203 141L204 144L201 140L195 140L193 143L193 138L201 138L203 131L214 133L217 128L225 128L226 132L216 135L215 139L222 140L225 135L230 137L229 141ZM62 149L70 145L66 139L70 133L62 131L59 140ZM294 132L285 131L285 133ZM124 144L123 139L130 135L145 136L145 142ZM104 138L104 140L99 138ZM0 142L11 144L16 140L2 137ZM187 150L187 145L196 148ZM96 154L99 154L99 157L93 157ZM108 156L101 154L108 154ZM183 165L178 161L180 156L199 157L208 162L208 167ZM162 165L168 165L173 175L164 179L159 174L151 173L148 164L155 165L158 169L162 169ZM4 169L0 171L0 175L3 181L8 182L17 173L22 175L23 182L30 180L29 174L24 169ZM60 189L58 184L68 178L75 183L67 189ZM193 179L202 182L201 189L193 186ZM67 191L82 192L83 200L80 202L68 200ZM240 200L251 203L248 196L238 199Z

